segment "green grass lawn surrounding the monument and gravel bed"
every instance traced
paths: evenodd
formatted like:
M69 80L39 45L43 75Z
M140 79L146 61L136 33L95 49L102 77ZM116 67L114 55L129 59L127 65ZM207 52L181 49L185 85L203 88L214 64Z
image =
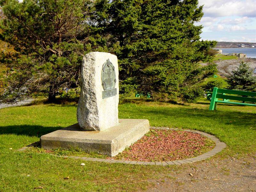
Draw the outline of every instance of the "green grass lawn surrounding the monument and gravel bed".
M138 99L120 104L119 118L211 133L228 145L214 158L255 156L256 108L227 104L218 104L217 111L208 108L205 99L186 105ZM76 123L76 103L3 108L0 116L0 191L136 191L151 185L148 179L173 179L174 170L186 167L106 164L17 151L41 135Z

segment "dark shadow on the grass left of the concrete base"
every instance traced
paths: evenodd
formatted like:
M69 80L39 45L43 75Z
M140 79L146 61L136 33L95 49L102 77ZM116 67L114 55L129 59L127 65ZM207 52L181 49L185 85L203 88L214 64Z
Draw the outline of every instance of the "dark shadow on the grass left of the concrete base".
M0 126L0 134L16 134L41 137L47 133L64 127L44 127L40 125L9 125Z

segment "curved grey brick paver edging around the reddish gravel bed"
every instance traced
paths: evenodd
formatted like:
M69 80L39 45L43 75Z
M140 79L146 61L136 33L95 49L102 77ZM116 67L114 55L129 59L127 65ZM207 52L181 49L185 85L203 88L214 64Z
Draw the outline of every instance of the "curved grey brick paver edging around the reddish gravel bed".
M195 130L187 130L187 129L174 129L169 127L150 127L151 129L166 129L166 130L180 130L180 131L188 131L188 132L194 132L199 133L201 135L204 135L211 140L215 142L215 147L208 151L207 153L204 153L202 155L193 157L193 158L187 158L182 160L176 160L176 161L155 161L155 162L144 162L144 161L125 161L125 160L115 160L115 159L100 159L100 158L93 158L93 157L81 157L81 156L58 156L54 154L50 154L52 156L58 156L58 157L64 157L64 158L74 158L74 159L83 159L85 161L98 161L98 162L105 162L105 163L123 163L123 164L138 164L138 165L181 165L181 164L187 164L187 163L194 163L197 161L202 161L204 159L208 159L217 153L219 153L222 149L224 149L227 145L224 142L221 142L217 137L210 135L205 132L201 131L195 131ZM19 151L25 151L28 149L28 147L34 146L33 144L28 145L26 147L20 148Z

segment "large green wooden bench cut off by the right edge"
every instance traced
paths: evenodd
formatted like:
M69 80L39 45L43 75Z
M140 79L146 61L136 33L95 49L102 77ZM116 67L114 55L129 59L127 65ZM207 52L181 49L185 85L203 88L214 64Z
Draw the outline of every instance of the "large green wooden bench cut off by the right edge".
M226 94L234 94L234 95L249 96L249 97L233 96L233 95L226 95ZM227 101L227 100L236 100L236 101L256 103L256 98L253 98L253 97L256 97L256 92L219 89L218 87L214 87L212 91L212 98L211 98L209 110L210 111L215 110L217 107L217 103L228 103L228 104L247 105L247 106L256 107L256 104L253 104L253 103ZM223 99L223 100L219 100L219 99Z

